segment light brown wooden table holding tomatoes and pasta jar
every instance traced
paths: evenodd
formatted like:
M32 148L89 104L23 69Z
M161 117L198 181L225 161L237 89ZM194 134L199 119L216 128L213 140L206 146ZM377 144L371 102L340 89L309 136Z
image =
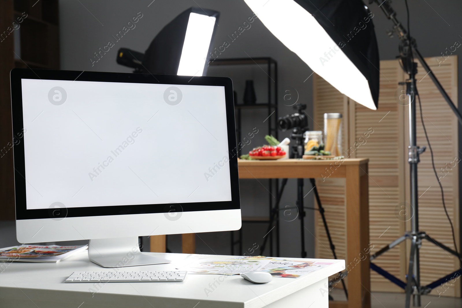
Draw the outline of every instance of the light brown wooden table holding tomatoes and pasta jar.
M371 282L369 254L369 159L350 158L343 161L285 159L277 161L239 160L240 179L345 178L346 204L346 268L348 269L348 302L329 302L329 307L370 308ZM163 252L164 236L151 236L151 251ZM194 234L183 234L183 253L194 253ZM160 243L160 245L159 245ZM358 262L359 260L359 262ZM358 262L358 263L356 263ZM350 267L348 267L351 265Z

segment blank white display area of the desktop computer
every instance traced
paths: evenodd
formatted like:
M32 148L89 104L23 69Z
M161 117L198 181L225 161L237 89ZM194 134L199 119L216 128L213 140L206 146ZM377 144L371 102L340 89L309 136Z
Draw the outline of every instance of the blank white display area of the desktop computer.
M27 209L231 201L224 87L22 79L22 96Z

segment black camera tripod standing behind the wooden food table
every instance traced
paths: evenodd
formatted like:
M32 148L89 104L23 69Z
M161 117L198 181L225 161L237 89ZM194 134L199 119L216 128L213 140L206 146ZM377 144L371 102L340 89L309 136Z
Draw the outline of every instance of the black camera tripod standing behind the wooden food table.
M306 107L306 106L305 106ZM304 109L304 108L303 108ZM300 109L302 110L302 109ZM290 151L290 158L302 158L304 154L304 141L303 141L303 133L308 130L308 127L294 127L292 129L291 133L291 139L295 141L295 144L292 145L292 151ZM286 187L288 179L282 179L281 181L281 186L279 193L277 195L276 203L274 204L274 207L271 211L269 222L268 222L268 229L267 233L268 234L272 228L274 228L273 223L274 220L276 220L276 226L277 230L279 232L279 212L281 210L292 210L292 209L297 209L298 213L298 218L300 220L300 241L301 241L301 250L302 250L302 258L306 258L306 249L305 249L305 225L304 225L304 217L306 216L306 211L305 210L314 210L314 211L319 211L321 214L322 218L322 223L324 224L324 229L326 230L326 235L329 241L329 247L332 250L332 255L334 256L334 259L337 259L337 254L335 254L335 246L334 242L332 242L332 237L330 236L329 228L327 225L326 217L324 215L324 208L322 207L321 203L321 198L319 197L319 193L316 188L316 180L315 179L310 179L311 186L313 187L312 190L315 194L316 202L318 204L318 208L316 209L315 207L307 207L303 205L303 187L304 187L304 179L297 179L297 203L296 206L290 207L290 208L284 208L280 209L279 204L281 201L282 193L284 192L284 188ZM306 195L305 195L306 196ZM263 254L263 250L265 249L267 243L267 237L265 236L263 240L263 244L261 245L261 250L260 254ZM279 256L279 237L278 237L278 243L277 243L277 255ZM348 291L346 290L346 285L345 281L343 280L342 275L340 275L340 280L342 282L343 290L345 291L345 296L348 298Z

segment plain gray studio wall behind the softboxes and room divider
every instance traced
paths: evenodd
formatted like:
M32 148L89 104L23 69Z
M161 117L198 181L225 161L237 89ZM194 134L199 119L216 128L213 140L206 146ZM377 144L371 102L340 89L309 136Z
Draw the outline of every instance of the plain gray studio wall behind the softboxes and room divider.
M449 48L456 40L462 42L461 25L462 2L456 0L444 1L437 0L416 1L409 0L411 9L411 34L417 39L421 53L424 56L438 56L445 48ZM60 1L60 45L61 45L61 69L65 70L85 70L85 71L107 71L107 72L131 72L130 69L116 64L116 51L118 48L127 47L144 52L152 38L162 27L176 15L190 6L201 6L221 12L218 32L214 45L217 47L221 42L228 40L231 35L242 23L252 15L250 9L243 0L217 1L217 0L151 0L145 1ZM149 7L148 7L149 5ZM398 17L406 22L404 1L393 3ZM394 59L397 54L398 40L390 39L386 34L386 29L391 29L391 24L376 5L371 6L375 13L373 23L376 27L380 57L382 60ZM113 41L113 35L118 33L137 15L138 12L143 17L136 24L136 28L129 30L123 38L116 42L116 46L103 55L101 60L94 63L92 61L94 53L107 45L108 41ZM455 54L459 54L462 48L458 48ZM299 93L299 102L308 104L307 112L312 114L312 82L308 79L311 70L295 54L281 44L257 19L250 29L245 30L239 38L226 48L220 57L262 57L269 56L278 61L279 65L279 106L280 115L292 113L291 107L285 106L284 94L286 90L296 89ZM460 76L459 69L459 76ZM235 88L238 91L239 99L243 93L243 82L245 79L261 80L265 78L259 68L254 67L247 70L228 69L219 71L213 68L209 75L229 74L230 76L242 76L233 78ZM239 75L240 74L240 75ZM460 80L460 79L459 79ZM460 84L460 82L459 82ZM261 91L261 90L259 90ZM257 98L263 96L257 91ZM462 94L460 94L462 95ZM450 110L448 109L448 115ZM243 132L251 130L251 127L258 127L259 134L252 140L253 147L264 143L263 137L266 134L266 125L263 120L266 118L264 112L249 112L243 116ZM312 126L312 123L310 122ZM286 137L287 133L280 133L280 139ZM462 134L461 134L462 135ZM245 149L245 148L244 148ZM247 149L245 149L247 150ZM247 150L248 151L248 150ZM462 174L462 173L461 173ZM241 199L243 215L265 216L267 215L268 194L266 188L267 181L241 181ZM307 181L305 193L311 187ZM290 180L283 196L282 206L292 205L295 200L295 180ZM305 198L305 205L312 206L311 194ZM290 219L286 219L290 220ZM308 212L306 218L307 228L313 232L313 213ZM281 231L281 251L284 256L299 256L299 221L282 221ZM262 231L263 232L263 231ZM244 233L246 242L261 243L261 235L264 232ZM315 239L307 232L308 256L313 256L313 245ZM244 249L248 244L244 244Z

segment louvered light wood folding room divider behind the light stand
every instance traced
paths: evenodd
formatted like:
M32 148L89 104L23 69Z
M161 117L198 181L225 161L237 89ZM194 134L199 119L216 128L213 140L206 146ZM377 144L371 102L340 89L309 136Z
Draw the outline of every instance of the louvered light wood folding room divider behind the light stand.
M428 58L432 72L457 106L457 57L450 56L442 63ZM459 243L459 181L457 119L441 97L432 80L419 65L417 89L422 103L422 115L432 144L435 166L444 187L445 203L455 227ZM323 130L323 114L340 112L343 115L343 155L369 158L369 212L371 254L410 230L410 215L403 210L410 202L409 167L407 163L408 106L405 89L398 85L407 75L398 60L380 62L379 107L371 110L355 103L314 75L313 130ZM401 96L403 95L403 96ZM401 96L401 97L400 97ZM427 150L419 163L419 220L420 229L454 249L450 224L444 213L441 192L434 175L431 154L420 122L417 107L417 144ZM338 258L345 258L345 180L317 179L316 185L326 209L326 217ZM332 258L321 217L316 214L316 257ZM403 242L374 262L383 269L405 280L409 242ZM458 247L460 249L460 247ZM428 284L455 271L459 261L430 242L421 249L421 283ZM340 284L338 284L340 286ZM371 272L371 291L402 291L395 284ZM442 296L460 296L460 280L432 291Z

